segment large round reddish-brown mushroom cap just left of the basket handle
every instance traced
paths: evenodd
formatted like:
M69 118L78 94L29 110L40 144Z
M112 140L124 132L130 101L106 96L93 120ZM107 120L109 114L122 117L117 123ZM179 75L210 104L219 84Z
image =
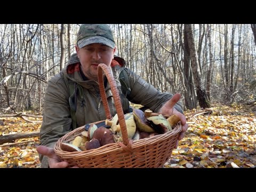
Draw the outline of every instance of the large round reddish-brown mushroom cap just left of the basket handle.
M100 146L107 145L109 143L114 143L113 133L106 127L99 127L94 131L93 139L98 139Z

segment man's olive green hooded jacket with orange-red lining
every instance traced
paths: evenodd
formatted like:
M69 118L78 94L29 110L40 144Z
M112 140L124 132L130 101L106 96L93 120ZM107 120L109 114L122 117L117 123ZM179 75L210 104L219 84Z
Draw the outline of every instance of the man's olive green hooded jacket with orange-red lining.
M69 86L67 85L64 76L67 77L69 83L76 82L83 89L82 94L77 93L76 95L77 127L106 119L98 82L95 82L94 80L84 81L79 71L79 65L81 64L79 63L76 54L73 54L68 65L48 82L44 97L44 115L40 130L40 145L53 147L59 138L72 130ZM158 112L164 103L170 100L173 96L170 93L162 93L155 89L152 85L148 84L139 75L136 75L128 68L116 65L111 67L111 69L116 80L124 113L127 113L129 107L129 100L126 98L129 98L133 103L147 106L147 108ZM126 98L121 91L121 83L118 79L121 69L126 71L130 82L131 92ZM114 116L116 114L116 109L113 94L108 83L105 86L105 91L111 115ZM180 103L175 105L175 108L183 113ZM48 167L47 157L39 154L39 158L41 167Z

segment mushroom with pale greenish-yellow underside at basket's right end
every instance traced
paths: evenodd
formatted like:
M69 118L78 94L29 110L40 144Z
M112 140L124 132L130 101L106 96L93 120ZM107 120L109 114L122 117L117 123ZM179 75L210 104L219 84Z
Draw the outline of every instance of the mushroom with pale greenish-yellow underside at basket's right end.
M162 134L172 130L170 123L162 114L159 114L158 116L152 116L147 119L157 133Z

